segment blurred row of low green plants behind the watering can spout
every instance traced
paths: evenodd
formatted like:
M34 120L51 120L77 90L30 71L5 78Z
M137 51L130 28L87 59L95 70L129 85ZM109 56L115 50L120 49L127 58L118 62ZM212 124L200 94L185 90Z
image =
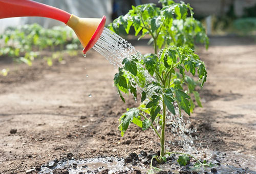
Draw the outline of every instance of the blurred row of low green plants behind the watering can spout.
M65 27L45 29L38 24L17 28L9 27L0 35L0 43L2 43L0 56L10 56L14 61L24 62L29 66L39 56L39 51L44 49L58 50L50 57L43 57L51 66L52 59L62 60L62 50L67 49L70 54L74 54L74 50L77 50L78 45L80 45L77 37L73 36L72 30ZM3 75L7 75L6 72L8 72L7 69L2 70Z

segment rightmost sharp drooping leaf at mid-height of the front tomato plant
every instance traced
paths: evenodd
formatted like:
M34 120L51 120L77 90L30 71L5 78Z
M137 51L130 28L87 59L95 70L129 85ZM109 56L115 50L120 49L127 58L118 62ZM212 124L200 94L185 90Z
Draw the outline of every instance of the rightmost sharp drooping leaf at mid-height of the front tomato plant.
M175 91L175 94L176 94L176 99L180 102L180 106L181 108L188 114L190 115L190 104L189 104L189 101L188 99L190 99L190 97L184 93L183 91L180 91L180 90L176 90Z

